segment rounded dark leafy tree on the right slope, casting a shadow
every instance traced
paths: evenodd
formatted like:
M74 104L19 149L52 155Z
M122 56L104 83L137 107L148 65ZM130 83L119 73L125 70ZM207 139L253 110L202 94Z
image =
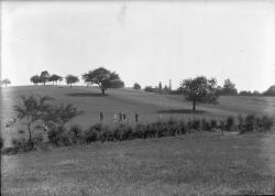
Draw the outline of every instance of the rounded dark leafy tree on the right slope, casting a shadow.
M196 110L197 102L218 102L217 81L215 78L207 79L199 76L194 79L185 79L182 89L186 100L193 101L193 111Z

